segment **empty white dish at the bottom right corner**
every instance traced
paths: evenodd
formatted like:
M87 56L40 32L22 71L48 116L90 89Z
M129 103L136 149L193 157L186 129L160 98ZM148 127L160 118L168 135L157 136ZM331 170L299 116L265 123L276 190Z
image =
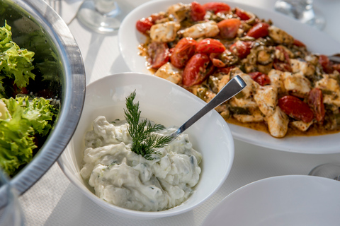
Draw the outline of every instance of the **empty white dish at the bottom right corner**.
M340 182L287 175L261 179L229 194L201 226L338 226Z

